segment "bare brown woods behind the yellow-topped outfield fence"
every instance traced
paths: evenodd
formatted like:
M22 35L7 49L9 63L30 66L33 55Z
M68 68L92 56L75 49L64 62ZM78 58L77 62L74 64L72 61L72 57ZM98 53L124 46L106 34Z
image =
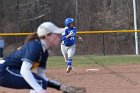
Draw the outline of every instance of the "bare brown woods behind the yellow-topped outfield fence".
M130 30L134 29L132 1L0 0L0 33L35 32L44 21L51 21L64 27L64 20L67 17L75 19L78 31ZM139 29L140 0L136 0L136 5ZM83 34L81 36L84 42L77 42L76 54L135 54L134 33ZM139 33L138 36L140 36ZM3 38L6 43L5 51L7 51L20 46L25 36ZM60 55L60 47L53 50L55 52L52 54Z

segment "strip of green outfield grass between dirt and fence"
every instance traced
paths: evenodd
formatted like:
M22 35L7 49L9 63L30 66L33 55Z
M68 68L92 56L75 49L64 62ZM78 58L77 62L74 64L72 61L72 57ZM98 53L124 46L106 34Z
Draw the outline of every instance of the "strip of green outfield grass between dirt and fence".
M114 56L94 56L81 55L73 57L73 65L77 67L104 65L123 65L123 64L140 64L140 56L136 55L114 55ZM48 68L66 67L62 56L51 56L48 59Z

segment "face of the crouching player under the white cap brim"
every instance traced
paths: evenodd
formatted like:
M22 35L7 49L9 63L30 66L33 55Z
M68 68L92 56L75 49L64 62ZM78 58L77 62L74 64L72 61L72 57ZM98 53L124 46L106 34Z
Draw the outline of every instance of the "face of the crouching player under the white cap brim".
M51 33L47 35L45 38L48 46L57 46L60 42L60 36L55 33Z

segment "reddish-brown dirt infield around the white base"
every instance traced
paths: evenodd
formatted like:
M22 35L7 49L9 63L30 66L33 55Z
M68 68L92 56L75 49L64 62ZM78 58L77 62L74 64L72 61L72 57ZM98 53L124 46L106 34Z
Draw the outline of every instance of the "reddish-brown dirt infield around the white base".
M88 70L87 69L99 69ZM140 65L119 65L75 68L70 74L65 68L48 69L50 79L77 87L85 87L86 93L140 93ZM61 93L48 88L49 93ZM0 87L0 93L28 93Z

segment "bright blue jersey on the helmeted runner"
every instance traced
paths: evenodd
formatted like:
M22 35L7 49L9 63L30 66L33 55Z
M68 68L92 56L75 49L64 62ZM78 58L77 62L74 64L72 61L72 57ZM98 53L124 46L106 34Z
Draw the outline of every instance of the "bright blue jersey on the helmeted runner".
M73 35L70 36L69 38L66 38L66 36L70 33L73 32ZM76 31L77 29L75 27L69 28L66 27L65 31L62 33L61 40L62 44L65 46L72 46L76 43Z

